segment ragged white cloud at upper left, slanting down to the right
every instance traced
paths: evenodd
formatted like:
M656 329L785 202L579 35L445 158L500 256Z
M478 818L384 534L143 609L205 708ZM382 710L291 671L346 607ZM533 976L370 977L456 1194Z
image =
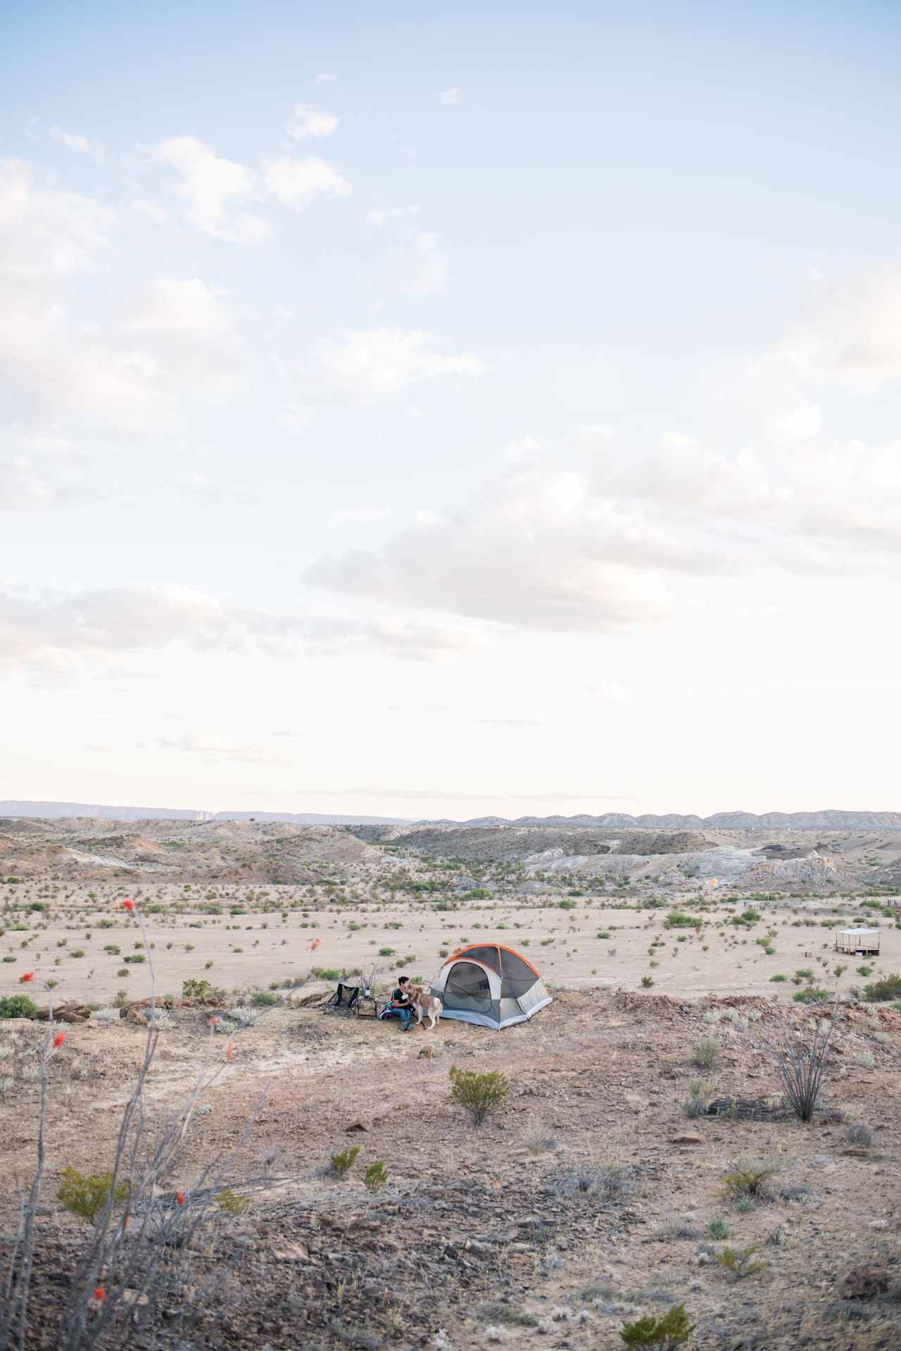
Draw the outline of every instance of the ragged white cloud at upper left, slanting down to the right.
M154 155L181 176L177 190L199 230L231 243L253 243L269 234L261 216L243 209L257 196L254 176L244 165L222 159L195 136L163 141Z

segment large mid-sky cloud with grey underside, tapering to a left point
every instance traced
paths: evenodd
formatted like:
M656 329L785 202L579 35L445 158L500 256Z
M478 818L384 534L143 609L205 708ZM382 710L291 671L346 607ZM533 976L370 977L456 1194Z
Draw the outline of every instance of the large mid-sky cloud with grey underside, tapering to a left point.
M696 566L663 530L597 499L585 476L525 467L378 553L315 565L307 580L519 628L598 631L667 613L665 573Z

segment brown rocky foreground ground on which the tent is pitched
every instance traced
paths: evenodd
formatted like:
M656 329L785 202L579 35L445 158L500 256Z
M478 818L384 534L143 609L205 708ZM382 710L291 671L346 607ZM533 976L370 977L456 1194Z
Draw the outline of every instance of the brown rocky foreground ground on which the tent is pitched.
M177 1008L161 1034L151 1129L184 1102L208 1044L222 1059L211 1013ZM621 1346L623 1320L684 1304L696 1347L896 1348L901 1013L842 1008L810 1125L779 1109L769 1051L806 1019L775 998L625 992L559 994L503 1034L444 1021L403 1035L315 1002L265 1011L235 1035L166 1179L190 1209L199 1173L224 1159L222 1183L253 1205L216 1212L168 1255L130 1344L588 1351ZM34 1161L38 1085L22 1067L41 1035L31 1023L0 1031L19 1067L1 1108L7 1231ZM109 1165L145 1036L126 1021L85 1024L54 1052L28 1346L54 1344L84 1244L54 1198L61 1170ZM713 1069L693 1063L704 1039L719 1046ZM473 1127L448 1096L451 1065L503 1071L507 1106ZM738 1109L686 1117L698 1078ZM346 1179L324 1175L354 1144ZM739 1159L773 1169L750 1206L723 1194ZM371 1194L362 1174L374 1161L388 1183ZM755 1247L761 1269L732 1274L720 1260L729 1247Z

